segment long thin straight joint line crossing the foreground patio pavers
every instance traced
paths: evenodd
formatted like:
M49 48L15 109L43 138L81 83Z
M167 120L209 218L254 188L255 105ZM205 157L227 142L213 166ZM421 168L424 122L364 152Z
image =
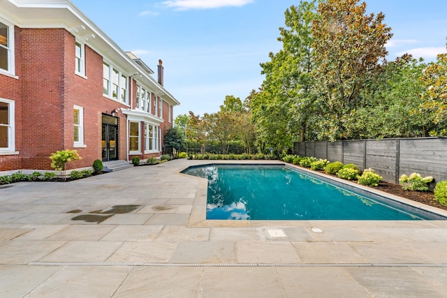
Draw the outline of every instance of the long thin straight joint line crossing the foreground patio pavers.
M447 263L154 263L154 262L29 262L30 266L128 267L447 267Z

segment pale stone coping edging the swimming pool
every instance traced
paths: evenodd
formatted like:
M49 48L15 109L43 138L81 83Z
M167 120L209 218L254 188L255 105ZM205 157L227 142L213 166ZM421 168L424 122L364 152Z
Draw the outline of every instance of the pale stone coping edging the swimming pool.
M402 198L397 195L392 195L390 193L386 193L384 191L379 191L374 188L370 188L367 186L362 186L360 184L356 184L353 181L349 181L346 179L341 179L338 177L332 177L328 174L323 174L321 172L316 172L309 170L305 167L299 167L297 165L293 165L291 163L284 163L280 161L202 161L201 163L198 163L197 165L190 165L188 167L194 167L194 166L202 166L202 165L284 165L286 167L295 168L299 171L305 172L306 174L309 174L309 176L312 177L321 177L323 180L331 180L335 183L335 185L346 185L349 186L349 188L358 188L361 191L365 191L367 193L372 193L374 195L379 195L383 198L393 200L395 202L399 202L402 204L409 205L411 207L414 207L416 209L421 209L427 212L430 212L432 214L437 214L439 216L444 216L446 219L439 219L439 220L425 220L428 222L433 221L446 221L447 220L447 211L443 209L439 209L437 207L432 207L426 204L422 204L420 202L416 202L413 200L409 200L406 198ZM179 170L177 174L181 174L187 177L191 177L193 179L198 179L198 187L197 187L197 193L194 198L193 207L191 210L191 216L189 217L188 226L189 227L233 227L233 228L248 228L248 227L262 227L262 226L272 226L272 225L280 225L280 226L314 226L312 223L316 222L337 222L337 223L346 223L346 222L367 222L363 220L293 220L293 221L247 221L247 220L208 220L206 218L206 205L207 205L207 179L200 178L200 177L194 177L188 174L183 174L182 171L186 170L188 167L183 168L182 170ZM401 221L401 220L400 220ZM392 222L390 221L373 221L373 222ZM393 221L395 222L395 221ZM408 222L402 220L401 222Z

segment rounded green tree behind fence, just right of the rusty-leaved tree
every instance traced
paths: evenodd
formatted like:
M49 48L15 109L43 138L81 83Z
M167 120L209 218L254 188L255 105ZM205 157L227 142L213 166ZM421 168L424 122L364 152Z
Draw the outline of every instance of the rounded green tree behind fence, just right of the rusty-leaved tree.
M353 121L346 126L350 138L420 137L427 121L411 114L420 105L419 80L426 64L409 54L383 65L360 94Z

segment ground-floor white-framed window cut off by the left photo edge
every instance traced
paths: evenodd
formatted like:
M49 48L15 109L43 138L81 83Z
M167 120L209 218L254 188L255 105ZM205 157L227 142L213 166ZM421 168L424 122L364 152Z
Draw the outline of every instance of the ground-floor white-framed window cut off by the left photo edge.
M0 98L0 152L15 151L15 102Z

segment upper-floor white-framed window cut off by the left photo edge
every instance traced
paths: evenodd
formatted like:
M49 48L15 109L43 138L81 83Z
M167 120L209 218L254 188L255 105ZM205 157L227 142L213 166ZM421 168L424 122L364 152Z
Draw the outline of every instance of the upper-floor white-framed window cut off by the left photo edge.
M14 75L14 26L0 20L0 72Z

